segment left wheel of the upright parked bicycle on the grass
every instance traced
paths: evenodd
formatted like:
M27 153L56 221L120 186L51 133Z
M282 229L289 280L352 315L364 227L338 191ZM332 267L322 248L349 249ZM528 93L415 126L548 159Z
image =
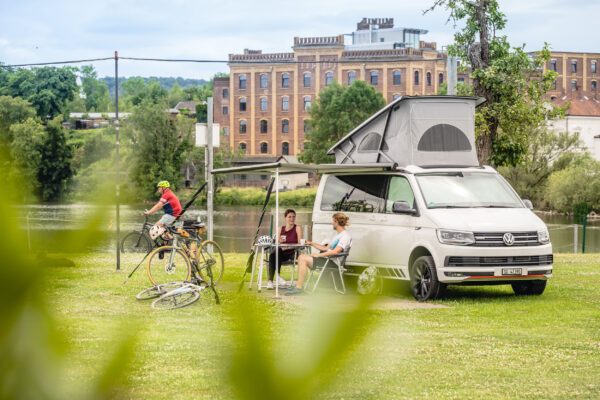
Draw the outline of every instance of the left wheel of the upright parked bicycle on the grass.
M154 286L173 281L189 282L191 271L190 260L178 247L158 247L148 256L146 273Z

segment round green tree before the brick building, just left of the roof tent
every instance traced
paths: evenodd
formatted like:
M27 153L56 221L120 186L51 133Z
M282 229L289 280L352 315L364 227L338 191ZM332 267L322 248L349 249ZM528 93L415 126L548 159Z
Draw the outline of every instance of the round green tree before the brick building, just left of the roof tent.
M327 86L310 110L311 130L300 160L333 162L327 150L384 105L381 93L364 81L354 81L350 86Z

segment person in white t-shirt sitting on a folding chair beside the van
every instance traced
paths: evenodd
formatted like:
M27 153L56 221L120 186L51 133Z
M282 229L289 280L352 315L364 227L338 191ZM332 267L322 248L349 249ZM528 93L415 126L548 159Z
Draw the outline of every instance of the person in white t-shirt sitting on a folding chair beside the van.
M314 268L316 258L330 257L340 254L350 248L352 238L346 230L346 226L348 226L348 217L346 214L333 214L331 224L333 225L333 229L336 231L336 234L331 239L331 244L329 246L310 241L306 242L307 244L310 244L311 246L314 246L320 250L321 253L313 253L310 256L307 254L302 254L300 257L298 257L298 280L296 281L296 286L291 287L287 291L286 296L304 293L303 286L304 282L306 281L306 276L308 275L309 270Z

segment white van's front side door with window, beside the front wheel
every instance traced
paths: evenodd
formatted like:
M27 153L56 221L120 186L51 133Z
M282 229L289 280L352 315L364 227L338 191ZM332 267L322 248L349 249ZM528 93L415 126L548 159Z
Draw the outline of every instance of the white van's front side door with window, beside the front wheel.
M405 201L416 209L415 195L410 182L404 176L390 176L385 210L377 219L375 234L378 237L374 261L382 266L400 268L400 278L408 278L408 258L415 241L415 227L418 217L408 214L394 214L395 201Z

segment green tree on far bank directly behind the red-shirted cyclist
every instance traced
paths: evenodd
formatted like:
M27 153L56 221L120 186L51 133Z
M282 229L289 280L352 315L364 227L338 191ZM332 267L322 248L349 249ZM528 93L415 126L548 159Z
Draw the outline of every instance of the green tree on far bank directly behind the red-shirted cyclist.
M160 180L177 187L186 153L192 146L194 121L186 117L173 119L165 110L165 103L146 99L127 122L126 135L132 148L131 179L143 199L154 196Z

